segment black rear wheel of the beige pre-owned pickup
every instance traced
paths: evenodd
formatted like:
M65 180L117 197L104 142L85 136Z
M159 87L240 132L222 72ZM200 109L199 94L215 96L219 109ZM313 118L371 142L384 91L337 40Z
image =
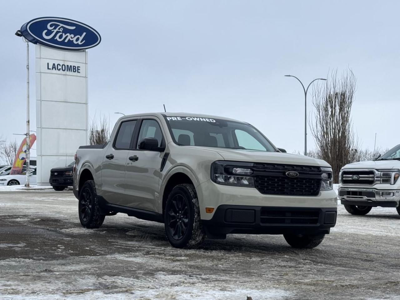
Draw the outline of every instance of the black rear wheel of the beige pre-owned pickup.
M78 211L80 224L83 227L99 228L104 222L105 215L100 214L93 180L86 181L79 191Z

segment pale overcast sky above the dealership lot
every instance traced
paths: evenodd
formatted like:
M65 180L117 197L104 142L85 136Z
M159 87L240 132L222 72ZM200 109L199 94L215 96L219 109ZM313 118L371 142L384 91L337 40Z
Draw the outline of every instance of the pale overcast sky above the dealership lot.
M92 4L89 4L92 3ZM14 36L42 16L95 28L90 117L194 112L250 122L288 152L304 149L300 83L352 68L352 110L363 148L400 143L398 1L3 1L0 136L26 130L26 48ZM31 128L35 130L34 46ZM311 94L308 113L312 112ZM314 148L308 135L308 148ZM36 145L34 145L36 148Z

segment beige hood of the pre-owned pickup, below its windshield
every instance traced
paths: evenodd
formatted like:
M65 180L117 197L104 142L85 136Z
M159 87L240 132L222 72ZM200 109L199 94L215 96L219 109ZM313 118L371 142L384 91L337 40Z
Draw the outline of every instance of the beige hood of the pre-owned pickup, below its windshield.
M192 147L192 146L188 146ZM204 148L204 150L212 150L220 154L224 160L233 160L239 162L270 162L275 164L297 164L303 166L320 166L330 167L324 160L315 159L308 156L282 153L282 152L265 152L256 150L213 148L213 147L196 147Z

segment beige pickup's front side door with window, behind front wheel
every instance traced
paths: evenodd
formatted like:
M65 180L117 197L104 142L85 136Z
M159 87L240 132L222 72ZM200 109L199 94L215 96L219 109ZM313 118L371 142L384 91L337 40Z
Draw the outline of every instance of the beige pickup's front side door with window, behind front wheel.
M140 150L138 144L144 138L156 138L160 147L164 134L159 120L142 117L140 131L133 149L126 158L126 199L125 206L157 212L160 166L164 152Z

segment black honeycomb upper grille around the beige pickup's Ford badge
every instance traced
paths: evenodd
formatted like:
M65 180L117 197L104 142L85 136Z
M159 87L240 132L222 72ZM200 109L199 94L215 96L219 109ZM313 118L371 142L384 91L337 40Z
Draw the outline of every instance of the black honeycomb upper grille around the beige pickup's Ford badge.
M317 196L321 186L321 168L286 164L254 164L254 182L262 194ZM290 178L286 172L296 171Z

